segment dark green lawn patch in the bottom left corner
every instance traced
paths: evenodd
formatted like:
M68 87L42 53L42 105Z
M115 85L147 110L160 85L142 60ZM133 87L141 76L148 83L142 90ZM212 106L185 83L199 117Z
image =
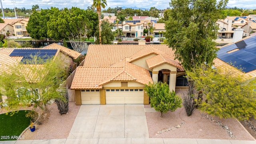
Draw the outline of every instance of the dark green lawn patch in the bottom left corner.
M0 114L0 141L16 140L18 136L30 124L30 118L26 118L28 110L20 110L13 116Z

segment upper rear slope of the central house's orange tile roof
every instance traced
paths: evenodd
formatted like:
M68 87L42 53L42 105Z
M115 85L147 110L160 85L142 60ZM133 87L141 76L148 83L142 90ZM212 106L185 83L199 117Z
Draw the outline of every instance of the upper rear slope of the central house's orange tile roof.
M145 50L143 50L146 48ZM131 61L154 53L152 48L174 58L174 50L166 44L150 45L96 45L90 44L84 66L112 66L117 62L130 58ZM138 53L139 54L136 54ZM140 54L142 56L140 56Z

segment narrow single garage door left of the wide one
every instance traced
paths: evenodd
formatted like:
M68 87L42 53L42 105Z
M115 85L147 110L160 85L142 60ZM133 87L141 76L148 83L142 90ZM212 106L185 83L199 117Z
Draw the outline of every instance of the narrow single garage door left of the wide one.
M100 104L100 90L81 90L82 104Z

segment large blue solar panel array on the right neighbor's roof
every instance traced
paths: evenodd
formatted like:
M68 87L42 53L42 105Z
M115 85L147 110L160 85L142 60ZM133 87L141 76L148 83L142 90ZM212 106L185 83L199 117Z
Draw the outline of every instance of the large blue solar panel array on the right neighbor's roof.
M239 50L227 53L236 48ZM235 67L243 68L244 72L256 70L256 36L220 48L217 57L224 62L232 62Z

